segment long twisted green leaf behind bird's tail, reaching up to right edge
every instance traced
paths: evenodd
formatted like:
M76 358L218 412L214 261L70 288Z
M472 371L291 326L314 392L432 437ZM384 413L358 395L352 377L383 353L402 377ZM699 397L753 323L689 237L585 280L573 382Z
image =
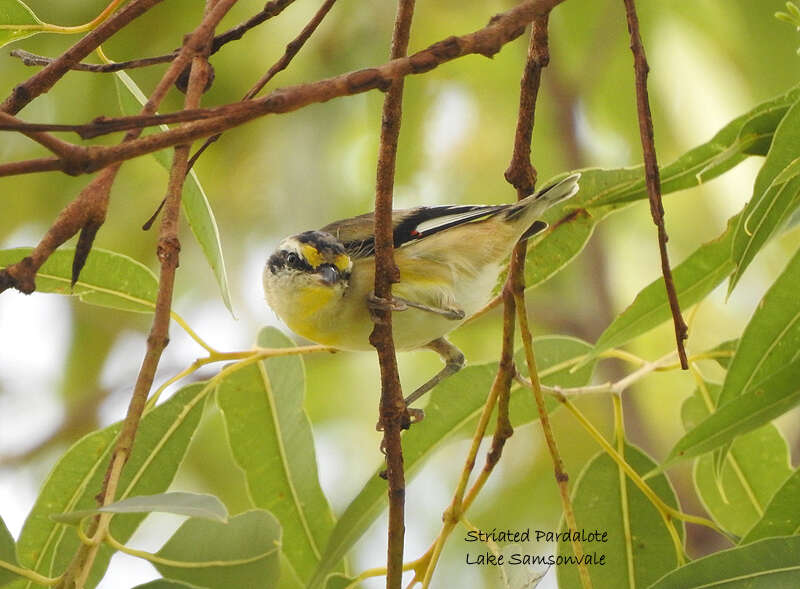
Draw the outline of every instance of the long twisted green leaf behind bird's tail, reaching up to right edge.
M759 104L725 125L710 141L663 167L662 194L716 178L748 155L763 155L779 122L798 97L800 87ZM529 245L525 269L528 287L544 282L575 258L586 245L594 225L604 217L647 198L642 166L581 170L580 186L573 198L547 212L544 218L550 228Z

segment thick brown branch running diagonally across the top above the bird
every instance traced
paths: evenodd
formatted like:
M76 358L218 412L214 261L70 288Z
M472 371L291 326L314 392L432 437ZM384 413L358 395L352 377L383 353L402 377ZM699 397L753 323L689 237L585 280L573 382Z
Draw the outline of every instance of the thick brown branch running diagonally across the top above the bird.
M115 131L169 122L190 120L196 122L192 125L184 125L162 133L148 135L124 145L83 148L85 149L82 152L83 160L77 167L86 173L93 172L111 163L209 137L270 113L291 112L309 104L326 102L341 96L351 96L374 89L385 91L394 80L408 75L426 73L442 63L465 55L480 54L491 57L504 44L519 37L524 32L524 27L534 17L548 12L561 2L563 0L527 0L508 12L494 17L489 25L482 29L460 37L449 37L409 57L393 59L379 67L357 70L334 78L276 90L258 100L237 102L215 109L182 111L170 115L122 117L98 121L95 123L98 127L105 126L107 129L113 127L112 130ZM66 168L63 162L54 163L56 161L45 158L38 160L35 164L15 162L0 165L0 176L19 173L19 170L23 168L28 171L64 170Z

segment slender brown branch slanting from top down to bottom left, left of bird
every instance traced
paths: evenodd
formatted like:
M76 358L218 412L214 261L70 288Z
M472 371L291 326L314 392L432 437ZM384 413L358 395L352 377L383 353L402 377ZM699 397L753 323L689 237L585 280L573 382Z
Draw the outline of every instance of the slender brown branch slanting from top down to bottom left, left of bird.
M212 9L207 11L200 25L190 37L187 37L184 43L181 55L192 56L191 73L185 98L187 108L196 108L199 104L200 97L206 88L206 82L211 72L207 61L207 55L214 27L216 27L217 23L235 3L236 0L218 0ZM174 70L172 75L178 75L182 71L178 62L179 59L176 59L172 63L170 68L170 71ZM167 78L166 74L165 77L162 78L162 82L165 81L165 78ZM162 84L160 84L159 87L161 85ZM157 88L157 90L158 89L159 88ZM151 97L151 99L148 100L148 105L153 102L153 97ZM157 255L161 263L161 272L158 282L158 294L156 296L153 323L150 328L150 334L147 337L145 357L142 360L133 394L128 405L128 411L122 423L122 430L117 437L102 489L97 495L97 502L99 505L108 505L114 501L117 484L119 483L122 469L133 448L133 442L136 437L139 422L141 421L142 413L144 412L150 387L155 378L155 372L161 354L169 342L168 334L172 309L172 293L180 252L178 220L180 219L181 192L186 179L190 147L189 144L186 144L175 148L175 155L167 186L164 216L162 218L158 240ZM93 536L96 542L92 544L81 544L57 589L72 589L73 587L77 589L83 586L83 582L94 564L94 559L108 524L109 518L106 515L99 516L92 520L88 535Z

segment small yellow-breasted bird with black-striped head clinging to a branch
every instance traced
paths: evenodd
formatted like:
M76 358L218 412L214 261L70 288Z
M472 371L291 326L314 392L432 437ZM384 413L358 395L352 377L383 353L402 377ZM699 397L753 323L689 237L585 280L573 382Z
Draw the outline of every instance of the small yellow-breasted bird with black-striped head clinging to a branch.
M405 398L409 405L465 364L446 335L491 299L514 246L547 228L542 213L578 192L567 176L513 204L392 211L400 273L390 300L375 297L374 213L283 239L263 272L264 294L295 333L339 350L373 350L376 309L393 315L395 349L430 349L445 366ZM416 410L416 420L422 418Z

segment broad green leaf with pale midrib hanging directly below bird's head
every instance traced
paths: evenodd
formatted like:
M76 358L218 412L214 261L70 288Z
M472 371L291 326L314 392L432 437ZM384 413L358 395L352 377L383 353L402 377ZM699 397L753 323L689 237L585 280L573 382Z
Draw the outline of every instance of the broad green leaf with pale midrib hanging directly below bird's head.
M268 327L261 330L258 345L294 344ZM228 441L247 477L253 505L270 510L281 522L283 552L295 576L306 582L319 563L334 519L319 486L304 396L300 356L248 366L231 373L217 388Z

